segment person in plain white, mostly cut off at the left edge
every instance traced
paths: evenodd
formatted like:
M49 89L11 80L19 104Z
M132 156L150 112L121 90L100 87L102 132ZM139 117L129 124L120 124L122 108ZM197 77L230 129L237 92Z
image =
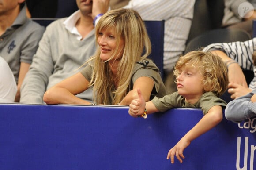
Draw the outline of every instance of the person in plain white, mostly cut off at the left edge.
M4 58L0 57L0 102L14 102L16 92L13 73Z

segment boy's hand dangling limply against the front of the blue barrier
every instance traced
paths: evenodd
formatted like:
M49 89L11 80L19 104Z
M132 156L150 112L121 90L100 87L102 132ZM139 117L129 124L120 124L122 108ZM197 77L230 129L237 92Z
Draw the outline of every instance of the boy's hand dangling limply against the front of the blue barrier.
M182 163L182 159L185 159L185 156L183 155L183 151L185 148L188 147L189 144L190 144L190 141L184 138L181 138L181 140L178 141L178 143L169 150L167 159L171 158L171 163L174 163L174 155L175 155L176 158L180 161L180 163Z

